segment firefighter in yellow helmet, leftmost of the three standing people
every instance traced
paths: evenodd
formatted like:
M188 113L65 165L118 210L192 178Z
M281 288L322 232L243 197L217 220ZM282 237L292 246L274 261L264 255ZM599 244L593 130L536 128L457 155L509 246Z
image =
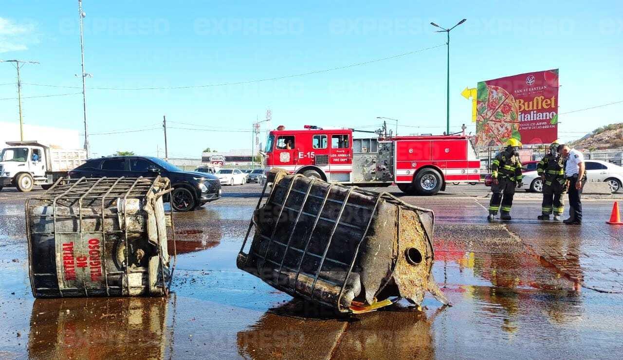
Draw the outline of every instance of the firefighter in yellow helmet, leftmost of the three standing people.
M506 149L501 151L491 163L491 201L489 202L488 220L493 220L500 211L500 219L510 220L510 208L513 206L515 187L521 186L521 161L519 149L521 143L511 138L506 143ZM501 207L500 207L501 205Z

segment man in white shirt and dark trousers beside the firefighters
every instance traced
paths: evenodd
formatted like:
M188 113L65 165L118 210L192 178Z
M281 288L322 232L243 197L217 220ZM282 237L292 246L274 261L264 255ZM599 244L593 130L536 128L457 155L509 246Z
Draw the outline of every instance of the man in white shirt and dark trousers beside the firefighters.
M558 152L565 158L564 177L568 181L569 189L569 219L564 220L567 225L582 223L582 188L586 181L584 155L567 144L558 146Z

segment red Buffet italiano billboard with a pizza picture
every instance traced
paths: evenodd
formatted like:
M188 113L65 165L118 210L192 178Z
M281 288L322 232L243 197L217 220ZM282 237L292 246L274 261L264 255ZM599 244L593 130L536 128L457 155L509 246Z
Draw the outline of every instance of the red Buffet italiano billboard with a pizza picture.
M558 138L558 69L487 80L477 89L477 146Z

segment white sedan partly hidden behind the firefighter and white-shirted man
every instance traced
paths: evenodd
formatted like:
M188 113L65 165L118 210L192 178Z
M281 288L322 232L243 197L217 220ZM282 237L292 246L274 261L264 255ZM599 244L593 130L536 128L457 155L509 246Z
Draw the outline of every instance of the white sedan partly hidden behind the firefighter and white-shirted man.
M623 168L601 160L584 160L587 181L606 181L612 192L618 192L623 186ZM523 186L526 191L543 191L543 181L536 171L523 173Z

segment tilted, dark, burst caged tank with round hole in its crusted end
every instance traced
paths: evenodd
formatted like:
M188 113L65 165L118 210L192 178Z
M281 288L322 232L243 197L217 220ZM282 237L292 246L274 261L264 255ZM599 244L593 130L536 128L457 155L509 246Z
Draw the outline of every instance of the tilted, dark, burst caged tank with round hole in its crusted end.
M269 172L267 184L272 190L257 204L238 254L240 269L340 313L372 311L401 298L419 305L426 291L448 303L430 272L432 211L386 192L280 169Z

